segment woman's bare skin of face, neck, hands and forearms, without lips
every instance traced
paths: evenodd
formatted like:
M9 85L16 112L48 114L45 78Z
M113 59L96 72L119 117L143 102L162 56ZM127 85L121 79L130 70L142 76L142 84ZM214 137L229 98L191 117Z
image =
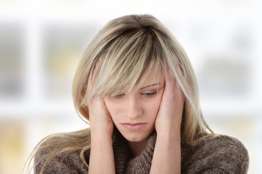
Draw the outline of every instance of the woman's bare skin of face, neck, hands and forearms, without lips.
M150 81L151 80L151 81ZM128 94L107 97L94 96L88 104L91 129L91 152L89 174L115 174L112 147L113 122L128 140L132 154L139 155L146 147L148 136L157 131L155 151L150 173L180 174L180 125L184 98L168 69L167 81L164 77L157 81L149 79L144 86L134 87ZM151 97L145 92L158 90ZM121 123L147 123L140 130L130 131ZM103 161L103 162L101 162Z

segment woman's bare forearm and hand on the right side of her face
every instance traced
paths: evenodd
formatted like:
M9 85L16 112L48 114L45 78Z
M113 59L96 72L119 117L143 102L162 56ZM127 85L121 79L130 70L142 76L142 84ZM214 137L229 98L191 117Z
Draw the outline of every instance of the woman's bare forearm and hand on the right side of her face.
M169 72L155 122L157 139L150 174L181 172L180 125L184 98L178 89Z

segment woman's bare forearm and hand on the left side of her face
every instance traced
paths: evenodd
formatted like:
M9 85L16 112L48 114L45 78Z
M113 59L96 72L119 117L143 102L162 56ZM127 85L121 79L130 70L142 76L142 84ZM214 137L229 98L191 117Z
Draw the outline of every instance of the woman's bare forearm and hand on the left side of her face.
M96 73L97 68L94 70ZM95 76L93 74L93 77ZM93 79L92 79L93 81ZM113 121L104 99L94 96L88 103L91 149L88 174L115 174L112 146Z

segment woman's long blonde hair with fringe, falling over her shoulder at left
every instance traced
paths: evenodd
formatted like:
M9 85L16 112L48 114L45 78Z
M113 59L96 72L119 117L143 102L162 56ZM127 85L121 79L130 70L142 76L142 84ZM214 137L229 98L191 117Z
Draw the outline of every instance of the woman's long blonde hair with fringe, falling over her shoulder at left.
M97 73L90 87L95 67ZM181 139L194 145L211 137L213 132L202 117L198 85L190 61L172 33L151 15L116 18L95 35L74 76L72 95L76 111L88 123L87 103L94 95L129 92L134 85L160 72L166 78L167 67L185 98ZM88 94L87 88L90 88ZM35 154L53 146L48 158L43 157L47 158L45 164L61 153L77 151L87 165L84 154L90 149L90 130L49 136L37 145Z

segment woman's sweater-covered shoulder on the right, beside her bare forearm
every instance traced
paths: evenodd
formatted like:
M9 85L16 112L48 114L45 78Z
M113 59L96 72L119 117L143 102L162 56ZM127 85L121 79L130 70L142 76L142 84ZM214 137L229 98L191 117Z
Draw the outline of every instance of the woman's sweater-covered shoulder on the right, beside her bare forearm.
M198 145L186 147L182 154L185 157L181 167L192 171L188 174L246 174L248 171L247 149L241 141L229 136L216 135L205 139Z

